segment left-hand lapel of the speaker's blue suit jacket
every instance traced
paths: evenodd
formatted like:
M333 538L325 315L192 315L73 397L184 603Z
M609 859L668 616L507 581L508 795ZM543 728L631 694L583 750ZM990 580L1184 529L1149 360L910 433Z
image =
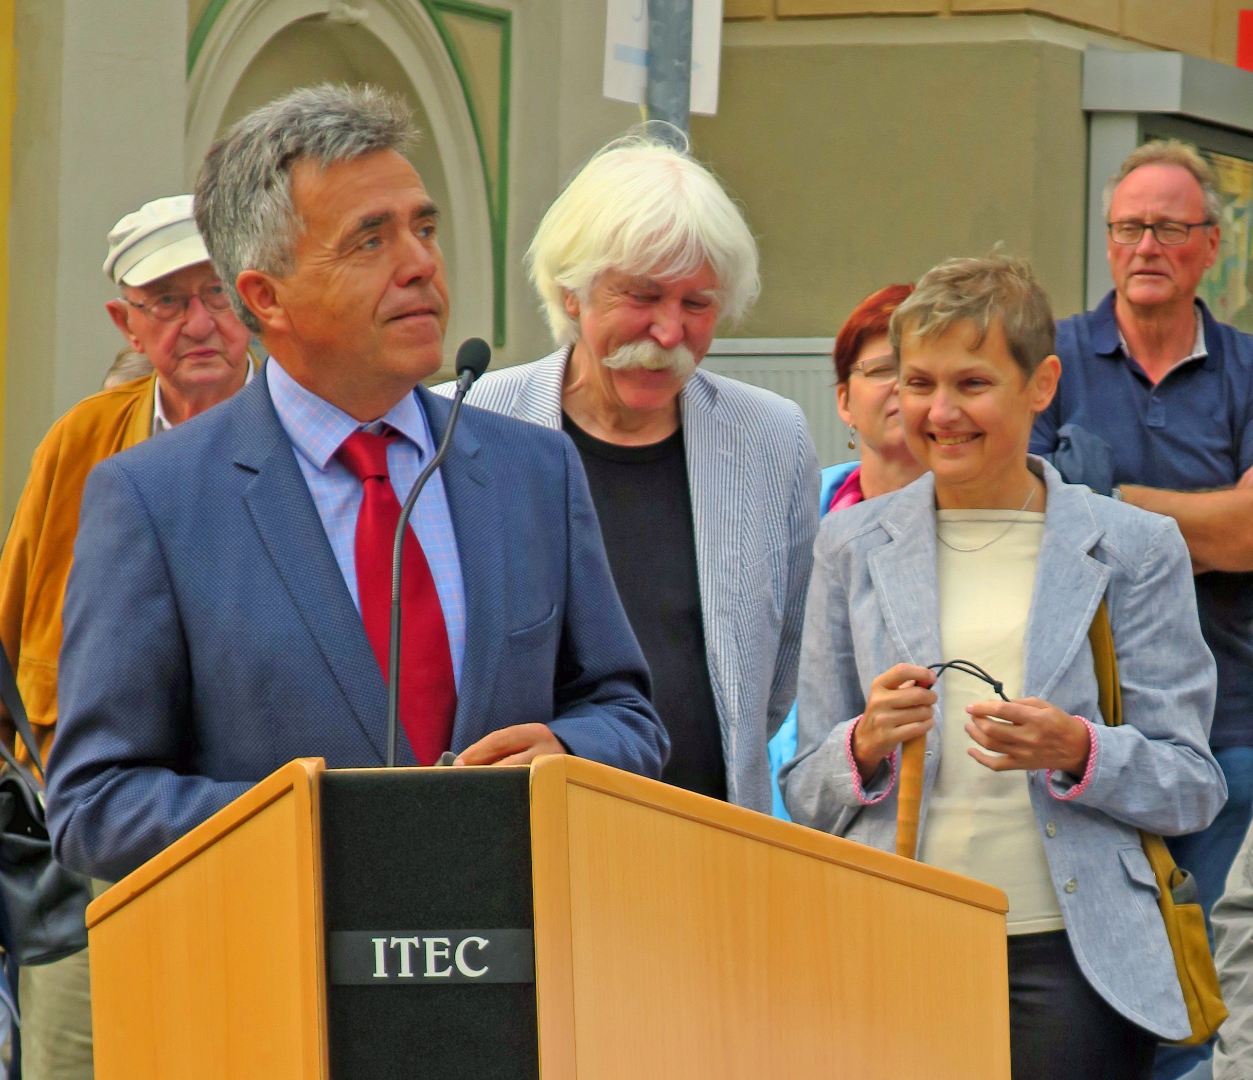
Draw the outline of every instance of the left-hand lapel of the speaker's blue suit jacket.
M266 380L254 378L238 397L243 408L234 464L254 474L244 487L244 505L301 619L382 764L387 692L361 615L335 561ZM401 757L413 762L405 739L401 739Z

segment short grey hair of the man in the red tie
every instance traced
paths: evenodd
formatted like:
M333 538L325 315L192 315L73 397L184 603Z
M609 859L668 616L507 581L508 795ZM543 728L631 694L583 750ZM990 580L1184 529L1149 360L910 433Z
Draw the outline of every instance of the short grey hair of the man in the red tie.
M261 331L236 278L246 269L283 277L294 268L302 223L292 168L322 169L381 150L405 153L417 133L408 106L377 86L306 86L254 109L204 158L195 182L195 224L244 326Z

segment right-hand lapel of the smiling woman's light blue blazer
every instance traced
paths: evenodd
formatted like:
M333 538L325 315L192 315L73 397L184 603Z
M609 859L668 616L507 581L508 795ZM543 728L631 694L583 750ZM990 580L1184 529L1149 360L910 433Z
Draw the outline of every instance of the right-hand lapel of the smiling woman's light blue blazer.
M1049 700L1088 636L1110 570L1088 554L1101 529L1088 505L1086 489L1064 484L1048 464L1044 479L1048 502L1022 639L1022 694Z

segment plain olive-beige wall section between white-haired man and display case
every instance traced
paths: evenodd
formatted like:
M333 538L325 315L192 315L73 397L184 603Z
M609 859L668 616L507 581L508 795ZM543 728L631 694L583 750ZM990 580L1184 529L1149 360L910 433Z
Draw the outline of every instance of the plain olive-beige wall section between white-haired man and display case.
M732 24L697 154L744 207L744 337L831 336L865 296L1004 244L1083 306L1083 49L1036 16Z

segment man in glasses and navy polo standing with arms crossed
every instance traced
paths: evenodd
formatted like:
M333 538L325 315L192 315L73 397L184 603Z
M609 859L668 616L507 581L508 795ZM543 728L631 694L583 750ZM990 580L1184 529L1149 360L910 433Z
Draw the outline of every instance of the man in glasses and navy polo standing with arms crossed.
M1197 287L1218 254L1220 203L1205 160L1146 143L1105 188L1114 291L1058 325L1061 385L1031 450L1076 423L1110 447L1115 496L1179 524L1200 626L1218 662L1209 742L1229 798L1204 832L1168 841L1207 916L1253 814L1253 337L1218 322ZM1163 1046L1173 1080L1208 1047Z

